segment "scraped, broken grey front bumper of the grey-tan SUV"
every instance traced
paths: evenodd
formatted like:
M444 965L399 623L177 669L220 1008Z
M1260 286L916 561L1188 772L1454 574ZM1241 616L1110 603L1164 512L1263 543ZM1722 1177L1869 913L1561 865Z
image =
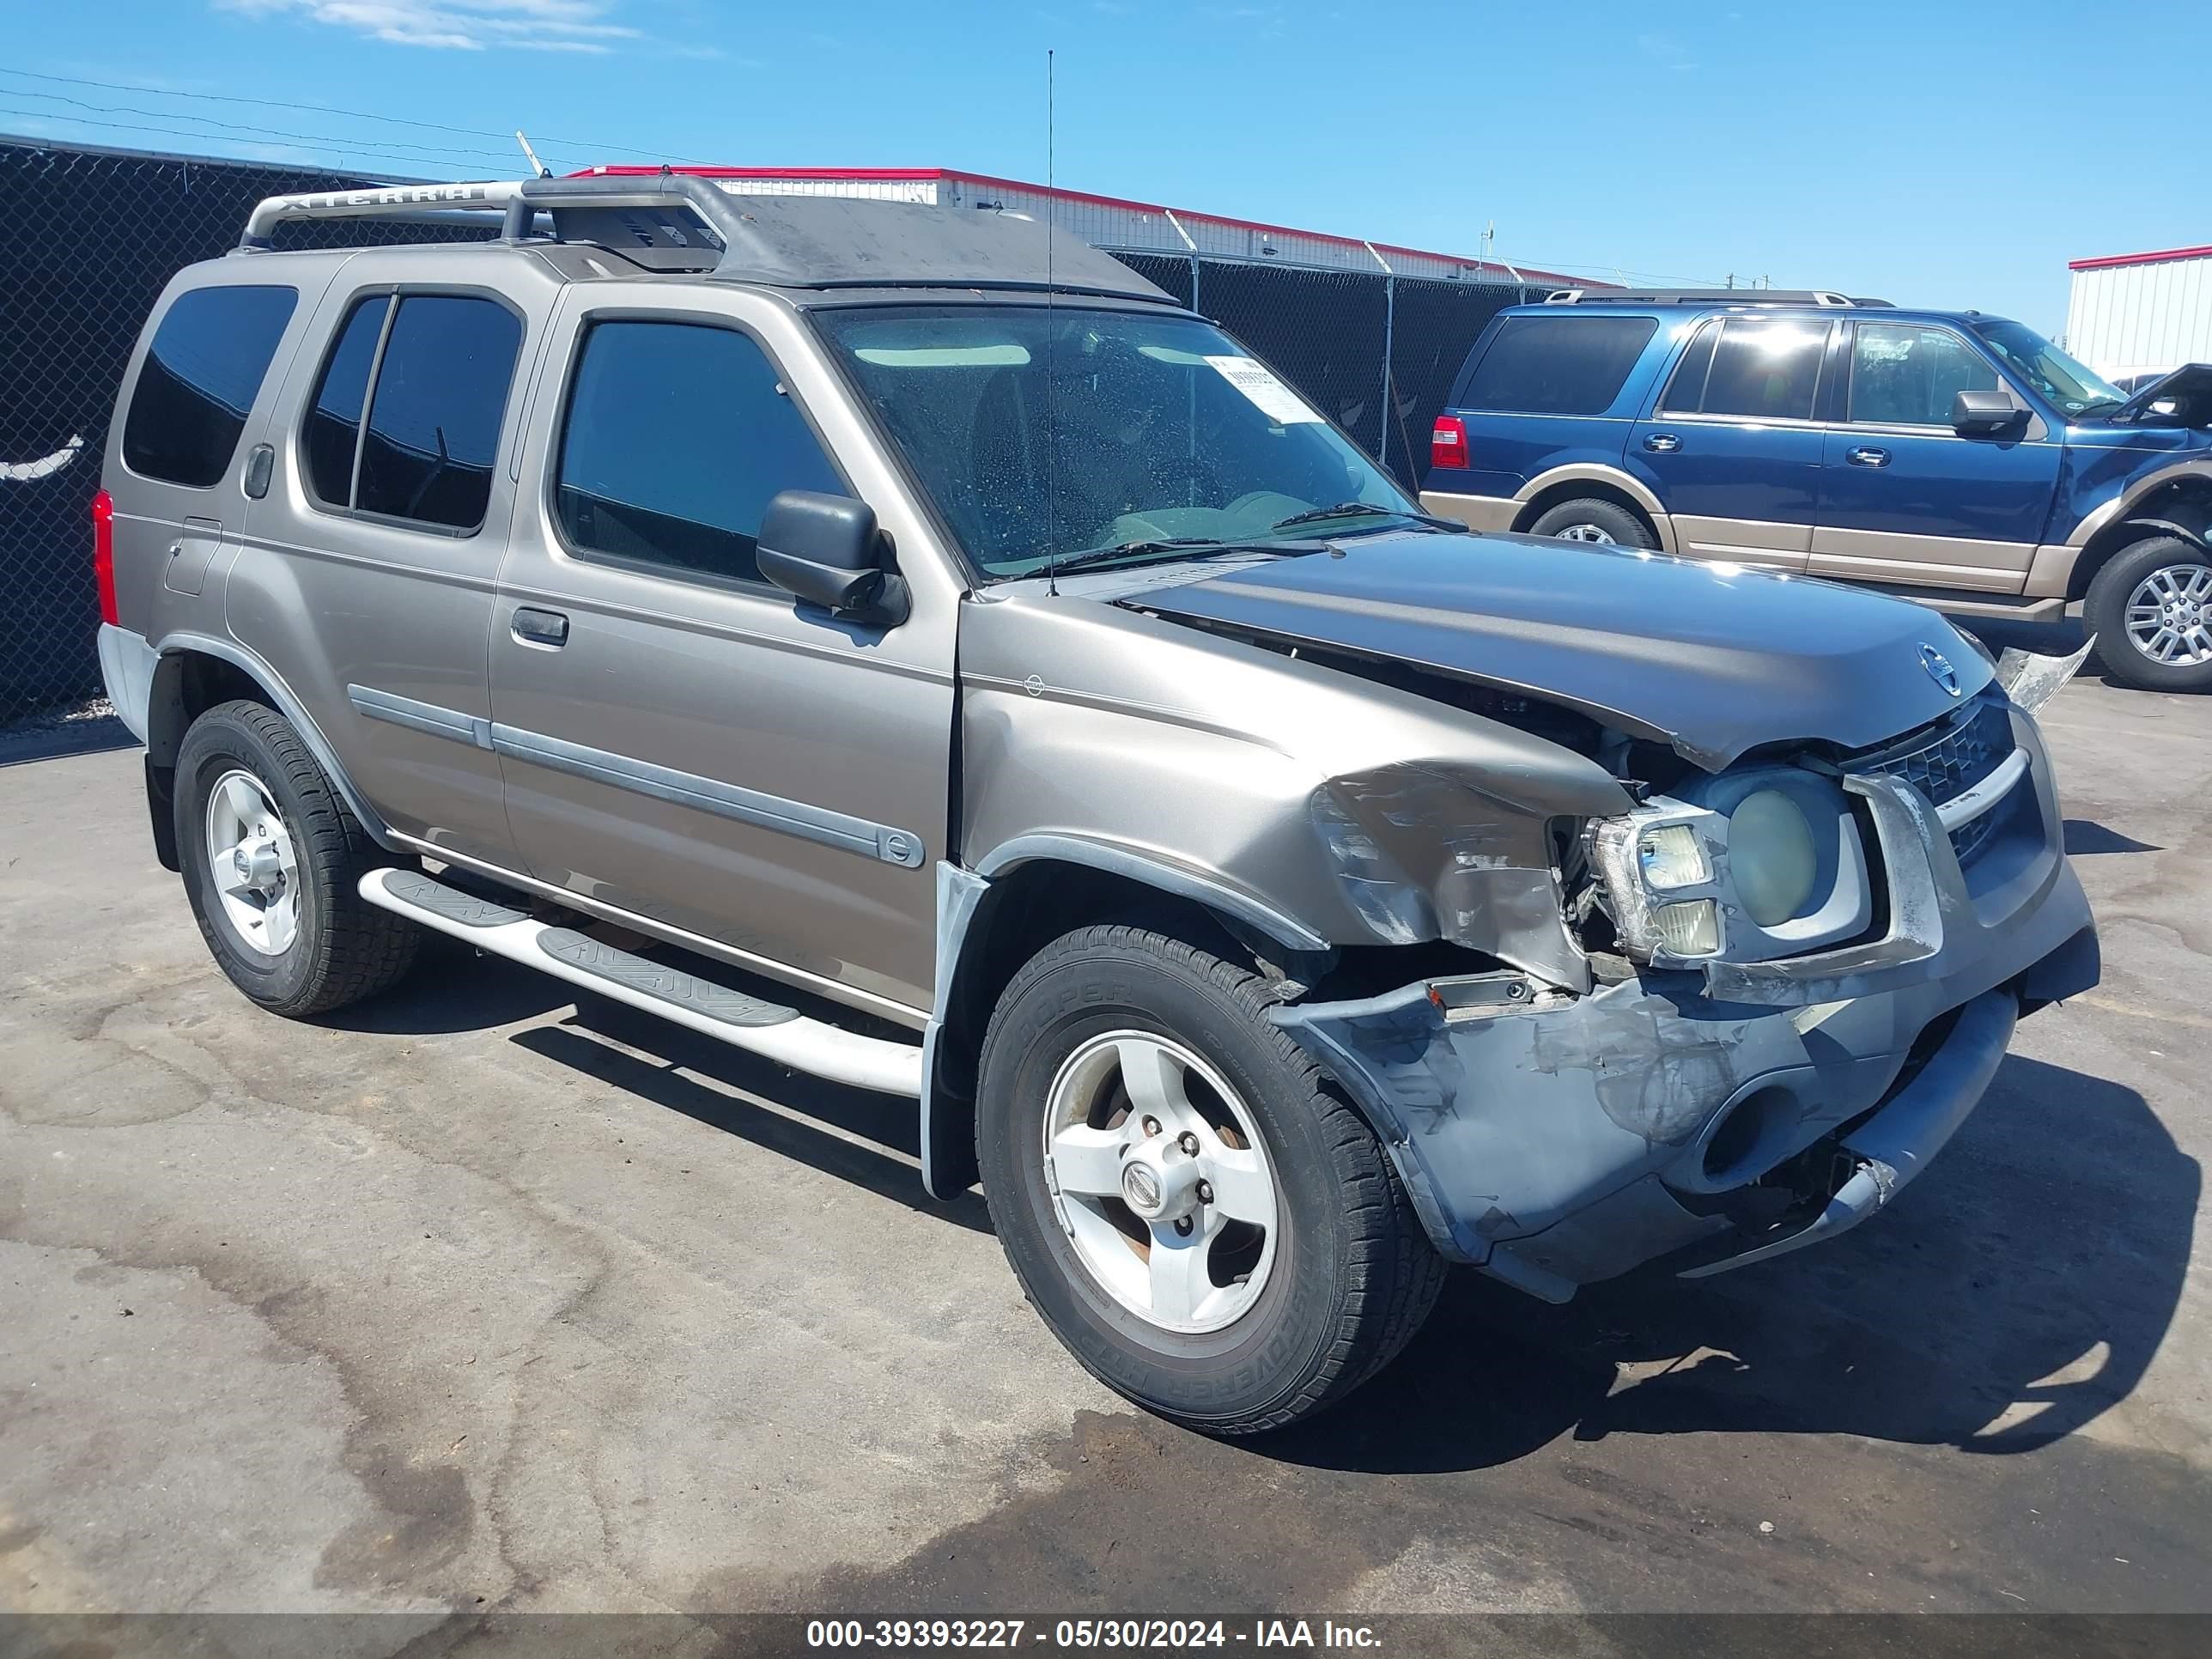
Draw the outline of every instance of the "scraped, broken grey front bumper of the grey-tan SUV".
M2013 1022L2097 982L2033 726L1962 869L1909 787L1878 814L1885 940L1590 995L1484 975L1272 1018L1363 1106L1438 1250L1546 1301L1674 1256L1712 1274L1834 1237L1918 1175Z

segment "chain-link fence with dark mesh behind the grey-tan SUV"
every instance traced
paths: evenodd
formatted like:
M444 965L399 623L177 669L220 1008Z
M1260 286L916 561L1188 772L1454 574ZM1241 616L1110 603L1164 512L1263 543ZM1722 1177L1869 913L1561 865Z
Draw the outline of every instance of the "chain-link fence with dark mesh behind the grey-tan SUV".
M261 197L387 184L0 139L0 726L100 695L91 502L131 347L168 279ZM453 223L288 223L276 243L467 241ZM1117 252L1117 250L1110 250ZM1409 487L1482 325L1535 290L1117 252L1265 356Z

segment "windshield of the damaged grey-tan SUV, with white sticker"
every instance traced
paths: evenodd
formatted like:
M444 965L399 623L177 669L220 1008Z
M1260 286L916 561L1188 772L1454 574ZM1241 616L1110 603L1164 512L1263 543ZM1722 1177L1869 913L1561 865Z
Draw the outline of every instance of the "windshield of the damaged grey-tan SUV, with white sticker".
M1356 535L1418 513L1194 316L929 305L814 321L984 575L1035 575L1099 549L1181 557L1192 544ZM1323 507L1347 511L1283 524Z

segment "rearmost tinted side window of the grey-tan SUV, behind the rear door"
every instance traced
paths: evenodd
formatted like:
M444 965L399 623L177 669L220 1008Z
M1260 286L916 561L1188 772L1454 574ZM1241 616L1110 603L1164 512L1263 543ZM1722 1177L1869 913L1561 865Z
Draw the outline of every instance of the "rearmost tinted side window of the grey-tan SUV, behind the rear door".
M124 420L124 462L170 484L230 471L296 288L195 288L153 332Z

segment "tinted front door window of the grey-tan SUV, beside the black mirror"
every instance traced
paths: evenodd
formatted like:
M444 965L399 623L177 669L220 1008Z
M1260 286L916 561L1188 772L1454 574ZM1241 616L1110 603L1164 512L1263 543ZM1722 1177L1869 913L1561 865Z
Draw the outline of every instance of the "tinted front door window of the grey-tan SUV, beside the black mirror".
M847 493L752 336L692 323L591 330L555 482L571 542L759 582L752 538L781 489Z

